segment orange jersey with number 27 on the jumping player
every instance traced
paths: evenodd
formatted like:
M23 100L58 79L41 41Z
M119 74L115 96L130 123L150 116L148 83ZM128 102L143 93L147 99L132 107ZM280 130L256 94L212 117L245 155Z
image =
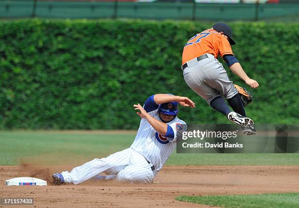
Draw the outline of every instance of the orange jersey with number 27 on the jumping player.
M185 45L183 50L182 65L205 53L213 54L217 59L218 54L233 54L229 41L213 29L207 29L202 33L197 33Z

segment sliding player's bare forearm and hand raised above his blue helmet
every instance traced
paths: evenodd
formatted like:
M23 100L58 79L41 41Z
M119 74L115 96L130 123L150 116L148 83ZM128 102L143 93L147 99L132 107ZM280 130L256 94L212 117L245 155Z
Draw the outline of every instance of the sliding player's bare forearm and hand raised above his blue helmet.
M167 95L167 94L155 94L154 101L156 104L164 104L168 102L178 102L180 105L184 107L195 107L195 104L192 100L187 97L175 96L175 95Z

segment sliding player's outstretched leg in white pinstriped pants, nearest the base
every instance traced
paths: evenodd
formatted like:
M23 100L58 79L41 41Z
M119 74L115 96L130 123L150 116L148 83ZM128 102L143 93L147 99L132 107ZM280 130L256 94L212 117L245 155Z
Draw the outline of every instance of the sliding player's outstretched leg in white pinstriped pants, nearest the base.
M62 172L64 183L80 184L90 178L93 178L103 172L110 174L117 174L124 169L130 161L131 149L125 149L116 152L106 158L94 159L90 162L73 168L70 172Z

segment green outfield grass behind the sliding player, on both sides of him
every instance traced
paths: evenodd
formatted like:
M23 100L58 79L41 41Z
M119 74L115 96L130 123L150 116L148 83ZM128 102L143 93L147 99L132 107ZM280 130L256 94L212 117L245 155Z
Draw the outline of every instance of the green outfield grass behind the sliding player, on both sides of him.
M128 148L134 134L0 131L0 165L79 165ZM176 154L166 165L298 166L299 154Z

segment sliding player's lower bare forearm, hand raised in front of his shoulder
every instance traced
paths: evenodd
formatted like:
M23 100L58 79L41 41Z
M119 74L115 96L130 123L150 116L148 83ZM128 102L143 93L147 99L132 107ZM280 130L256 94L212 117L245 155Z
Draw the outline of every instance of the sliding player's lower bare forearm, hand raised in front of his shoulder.
M149 124L155 129L156 132L163 136L166 134L168 127L167 124L151 117L140 104L134 104L133 106L135 107L135 110L140 110L140 112L137 112L137 115L139 115L142 119L148 120Z

